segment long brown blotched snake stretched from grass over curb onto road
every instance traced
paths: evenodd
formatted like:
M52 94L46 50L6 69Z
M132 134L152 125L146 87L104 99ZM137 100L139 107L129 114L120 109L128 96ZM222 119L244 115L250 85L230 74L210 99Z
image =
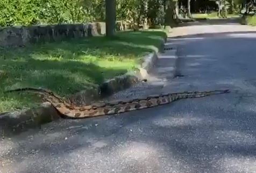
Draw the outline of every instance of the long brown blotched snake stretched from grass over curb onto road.
M15 91L30 91L42 95L44 100L50 102L56 110L64 116L70 118L88 118L96 116L105 116L110 114L119 114L127 111L145 109L148 107L168 104L175 100L184 98L198 98L206 97L210 95L216 95L219 93L227 93L229 90L214 90L214 91L202 91L202 92L176 92L176 93L163 93L160 95L148 96L144 99L131 99L127 102L116 103L98 103L89 106L75 106L66 99L61 98L50 90L37 89L37 88L22 88L8 90L5 92Z

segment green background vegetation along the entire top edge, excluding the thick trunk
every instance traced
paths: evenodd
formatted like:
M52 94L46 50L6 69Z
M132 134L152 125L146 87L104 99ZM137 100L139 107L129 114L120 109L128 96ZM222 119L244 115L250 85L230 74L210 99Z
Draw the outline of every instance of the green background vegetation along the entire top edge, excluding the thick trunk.
M252 0L116 0L116 19L143 25L164 25L169 17L191 17L191 13L249 12ZM189 10L188 10L189 9ZM225 12L224 10L224 12ZM105 0L1 0L0 26L105 21ZM190 11L190 12L189 12ZM222 15L223 16L223 15Z

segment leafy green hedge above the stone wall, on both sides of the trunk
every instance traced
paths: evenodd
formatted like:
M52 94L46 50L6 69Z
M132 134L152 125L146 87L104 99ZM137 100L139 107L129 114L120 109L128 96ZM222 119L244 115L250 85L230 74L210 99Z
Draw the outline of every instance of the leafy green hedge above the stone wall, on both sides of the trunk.
M163 23L165 0L116 0L117 20ZM1 0L0 26L87 23L105 20L105 0Z

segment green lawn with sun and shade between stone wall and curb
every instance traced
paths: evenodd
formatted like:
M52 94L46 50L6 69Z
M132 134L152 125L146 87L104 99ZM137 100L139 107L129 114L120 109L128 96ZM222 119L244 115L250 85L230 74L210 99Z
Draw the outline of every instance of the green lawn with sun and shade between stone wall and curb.
M117 33L113 40L93 37L0 48L0 112L40 103L32 94L6 95L3 91L7 89L43 87L68 97L134 70L165 35L162 30L130 31Z

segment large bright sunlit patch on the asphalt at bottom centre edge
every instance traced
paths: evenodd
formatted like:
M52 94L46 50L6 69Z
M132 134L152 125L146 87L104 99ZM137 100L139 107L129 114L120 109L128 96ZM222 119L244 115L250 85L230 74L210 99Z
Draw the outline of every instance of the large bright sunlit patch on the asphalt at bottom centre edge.
M117 159L122 160L125 172L134 170L136 172L194 170L191 165L172 152L167 146L159 145L157 141L151 139L129 141L117 150Z

